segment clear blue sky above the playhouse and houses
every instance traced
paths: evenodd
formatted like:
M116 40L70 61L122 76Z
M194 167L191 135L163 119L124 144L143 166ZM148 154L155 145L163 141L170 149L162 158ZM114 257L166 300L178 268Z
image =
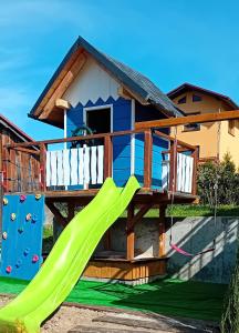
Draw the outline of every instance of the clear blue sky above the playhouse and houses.
M0 113L35 140L63 131L28 118L77 36L164 92L190 82L239 103L239 1L0 0Z

